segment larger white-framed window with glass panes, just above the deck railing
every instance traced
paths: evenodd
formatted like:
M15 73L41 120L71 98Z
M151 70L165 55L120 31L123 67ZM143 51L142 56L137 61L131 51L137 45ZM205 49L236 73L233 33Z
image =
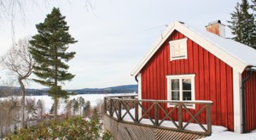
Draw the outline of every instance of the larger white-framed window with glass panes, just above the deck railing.
M195 100L195 74L166 76L167 100L193 101ZM168 107L172 107L168 104ZM187 105L189 109L195 109L194 105Z

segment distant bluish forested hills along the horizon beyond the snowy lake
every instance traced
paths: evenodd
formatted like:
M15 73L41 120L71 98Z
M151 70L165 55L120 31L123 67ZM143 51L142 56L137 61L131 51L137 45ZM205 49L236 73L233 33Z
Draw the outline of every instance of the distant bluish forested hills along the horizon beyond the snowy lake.
M47 95L48 89L26 89L27 96L40 96ZM75 92L77 94L108 94L108 93L131 93L137 92L137 85L125 85L118 87L107 87L107 88L84 88L84 89L75 89L67 90L68 92ZM6 97L7 95L19 95L19 87L0 87L0 98Z

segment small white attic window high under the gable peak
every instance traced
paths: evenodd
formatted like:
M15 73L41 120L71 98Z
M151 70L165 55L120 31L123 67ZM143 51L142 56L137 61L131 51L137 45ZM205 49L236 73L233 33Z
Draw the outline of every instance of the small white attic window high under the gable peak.
M187 40L188 38L184 38L169 42L171 61L175 59L187 59Z

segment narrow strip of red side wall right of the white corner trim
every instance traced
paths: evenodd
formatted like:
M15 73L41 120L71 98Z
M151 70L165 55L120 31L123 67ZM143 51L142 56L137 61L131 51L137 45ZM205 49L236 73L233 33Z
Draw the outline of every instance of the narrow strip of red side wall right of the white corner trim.
M242 79L245 78L249 72L242 73ZM252 77L245 83L245 104L246 104L246 130L252 131L256 129L256 72L253 72Z

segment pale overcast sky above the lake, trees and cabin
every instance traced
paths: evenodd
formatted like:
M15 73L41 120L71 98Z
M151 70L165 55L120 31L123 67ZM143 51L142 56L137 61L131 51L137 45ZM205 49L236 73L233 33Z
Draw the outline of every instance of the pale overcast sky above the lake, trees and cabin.
M69 33L78 40L68 49L76 55L67 63L76 76L62 87L81 89L137 84L131 71L166 25L183 21L203 29L214 20L228 25L230 13L241 0L90 0L89 5L86 0L29 2L32 1L26 1L25 17L20 18L17 10L15 36L9 20L0 20L0 55L7 52L12 38L18 41L37 34L35 25L44 22L53 7L60 8L70 26ZM231 36L227 26L226 36ZM2 82L10 78L3 69L0 77ZM28 87L44 88L35 82Z

